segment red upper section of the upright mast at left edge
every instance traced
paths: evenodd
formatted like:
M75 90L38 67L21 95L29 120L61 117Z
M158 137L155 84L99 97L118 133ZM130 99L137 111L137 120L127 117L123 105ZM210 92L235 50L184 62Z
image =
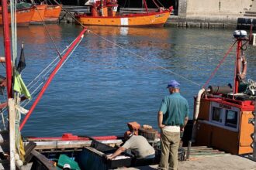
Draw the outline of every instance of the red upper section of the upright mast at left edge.
M7 79L7 96L12 98L12 62L11 62L11 41L9 34L9 19L7 0L2 0L2 23L4 32L4 46L5 46L5 70Z

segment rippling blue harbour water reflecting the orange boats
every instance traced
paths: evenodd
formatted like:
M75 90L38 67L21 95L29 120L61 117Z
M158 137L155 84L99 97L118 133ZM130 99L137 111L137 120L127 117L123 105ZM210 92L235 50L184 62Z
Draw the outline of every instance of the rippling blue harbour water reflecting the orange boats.
M81 31L79 26L65 24L47 28L60 51ZM88 29L92 32L85 34L29 117L22 129L24 136L53 137L67 132L123 135L130 121L157 128L157 111L168 95L168 81L174 79L181 83L181 93L189 100L192 118L194 96L234 43L233 30ZM19 27L18 46L22 42L26 56L22 78L29 83L57 56L57 51L43 26ZM233 83L234 50L209 84ZM245 51L247 78L252 80L256 80L255 52L253 46Z

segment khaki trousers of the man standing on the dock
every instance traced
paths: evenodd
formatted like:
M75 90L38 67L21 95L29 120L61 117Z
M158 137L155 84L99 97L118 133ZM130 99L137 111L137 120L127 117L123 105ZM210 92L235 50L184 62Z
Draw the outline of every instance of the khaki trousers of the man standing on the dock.
M161 160L158 169L177 170L179 142L179 132L161 131Z

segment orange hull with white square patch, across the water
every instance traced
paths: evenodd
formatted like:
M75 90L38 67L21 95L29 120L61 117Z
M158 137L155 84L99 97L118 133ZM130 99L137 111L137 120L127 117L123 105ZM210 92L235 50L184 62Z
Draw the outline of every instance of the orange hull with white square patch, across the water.
M170 11L123 16L86 16L78 15L78 22L88 26L164 26ZM78 23L77 22L77 23Z

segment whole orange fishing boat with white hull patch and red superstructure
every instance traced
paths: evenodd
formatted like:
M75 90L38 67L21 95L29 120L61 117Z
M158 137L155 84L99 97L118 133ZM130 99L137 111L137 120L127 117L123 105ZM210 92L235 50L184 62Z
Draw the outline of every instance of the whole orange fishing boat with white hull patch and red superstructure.
M94 1L90 2L90 13L75 15L78 22L83 25L94 26L164 26L172 7L163 8L157 5L157 9L137 8L133 11L117 12L118 4L114 1ZM134 9L134 8L133 8ZM139 10L138 10L139 9ZM77 23L78 23L77 22Z

